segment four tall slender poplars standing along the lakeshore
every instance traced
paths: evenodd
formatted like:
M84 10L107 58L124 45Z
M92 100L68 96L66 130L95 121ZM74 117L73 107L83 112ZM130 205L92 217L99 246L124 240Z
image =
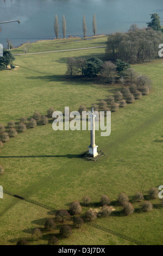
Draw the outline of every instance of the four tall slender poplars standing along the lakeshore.
M86 27L86 19L85 15L83 15L83 23L82 23L82 29L83 29L83 35L86 36L87 27ZM97 32L97 25L96 25L96 15L93 14L93 20L92 20L92 31L93 34L96 35ZM54 33L56 38L59 37L59 21L58 21L58 15L55 15L54 18ZM66 38L66 19L65 15L62 16L62 35L64 38Z

